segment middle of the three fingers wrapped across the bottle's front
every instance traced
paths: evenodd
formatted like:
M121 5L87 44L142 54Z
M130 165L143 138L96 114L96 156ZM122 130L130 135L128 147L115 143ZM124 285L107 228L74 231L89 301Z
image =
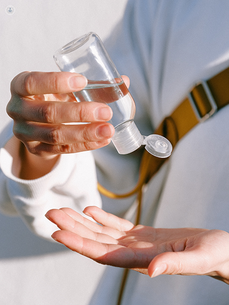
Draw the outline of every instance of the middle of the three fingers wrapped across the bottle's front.
M93 123L108 121L112 117L109 106L96 102L45 102L37 100L15 101L7 105L8 115L15 119L36 121L40 123Z

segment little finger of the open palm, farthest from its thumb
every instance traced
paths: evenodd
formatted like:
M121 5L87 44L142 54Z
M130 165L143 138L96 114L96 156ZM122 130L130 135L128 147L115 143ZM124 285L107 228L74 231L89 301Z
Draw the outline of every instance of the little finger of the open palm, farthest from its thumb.
M111 227L121 232L126 232L134 228L134 225L128 220L109 214L97 206L88 206L83 212L103 226Z

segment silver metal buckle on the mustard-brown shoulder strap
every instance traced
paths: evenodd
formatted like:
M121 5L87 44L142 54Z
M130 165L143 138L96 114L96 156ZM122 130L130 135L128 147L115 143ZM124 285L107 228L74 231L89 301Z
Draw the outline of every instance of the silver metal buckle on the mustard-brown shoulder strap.
M198 119L198 121L200 123L202 123L206 119L208 119L210 116L212 116L216 112L218 107L217 107L216 102L215 102L215 100L212 96L212 93L211 93L211 90L210 90L210 88L207 84L207 81L203 80L203 81L197 83L196 85L202 85L202 87L204 88L204 92L206 94L206 97L208 98L209 105L211 106L211 110L208 113L206 113L204 116L201 116L201 114L199 113L199 111L198 111L198 109L197 109L197 107L196 107L196 105L193 101L193 98L191 96L191 92L189 92L189 94L188 94L189 102L192 106L192 109L193 109L195 115L196 115L196 118Z

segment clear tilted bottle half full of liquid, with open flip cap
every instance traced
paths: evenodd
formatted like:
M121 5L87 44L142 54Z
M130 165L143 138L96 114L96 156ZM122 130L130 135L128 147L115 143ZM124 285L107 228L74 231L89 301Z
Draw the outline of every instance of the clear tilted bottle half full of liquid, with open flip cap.
M74 92L77 102L108 104L113 111L109 123L115 127L111 138L119 154L129 154L142 144L154 156L171 154L170 142L162 136L142 136L134 123L135 103L102 41L95 33L83 35L54 54L61 71L76 72L88 79L88 85Z

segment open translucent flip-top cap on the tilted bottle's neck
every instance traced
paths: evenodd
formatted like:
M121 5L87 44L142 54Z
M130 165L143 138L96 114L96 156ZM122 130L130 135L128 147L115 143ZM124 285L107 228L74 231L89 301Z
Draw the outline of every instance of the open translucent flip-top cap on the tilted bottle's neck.
M116 132L111 140L121 155L132 153L141 145L146 145L146 150L159 158L169 157L173 150L173 146L165 137L159 135L142 136L134 121L128 121L116 127Z

